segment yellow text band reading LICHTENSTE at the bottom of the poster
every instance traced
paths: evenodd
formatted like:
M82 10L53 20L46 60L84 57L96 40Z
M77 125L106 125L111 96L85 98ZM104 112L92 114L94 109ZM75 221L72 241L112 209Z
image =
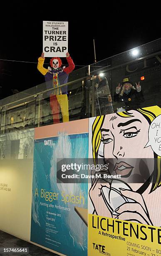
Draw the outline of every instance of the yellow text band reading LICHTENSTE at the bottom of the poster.
M161 254L161 228L92 214L89 214L88 223L89 256Z

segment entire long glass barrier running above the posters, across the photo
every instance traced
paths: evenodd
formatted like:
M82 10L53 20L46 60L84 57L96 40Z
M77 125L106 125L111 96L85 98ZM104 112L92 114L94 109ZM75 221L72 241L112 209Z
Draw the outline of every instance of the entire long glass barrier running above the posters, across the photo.
M161 106L161 39L0 101L0 134L117 111ZM141 85L141 86L140 86ZM52 89L47 89L52 88Z

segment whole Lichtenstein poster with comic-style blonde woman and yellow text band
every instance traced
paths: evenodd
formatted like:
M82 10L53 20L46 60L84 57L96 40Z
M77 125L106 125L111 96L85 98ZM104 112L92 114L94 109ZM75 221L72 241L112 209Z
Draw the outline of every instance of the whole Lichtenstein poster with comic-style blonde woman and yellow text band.
M161 108L89 118L89 157L88 255L161 255Z

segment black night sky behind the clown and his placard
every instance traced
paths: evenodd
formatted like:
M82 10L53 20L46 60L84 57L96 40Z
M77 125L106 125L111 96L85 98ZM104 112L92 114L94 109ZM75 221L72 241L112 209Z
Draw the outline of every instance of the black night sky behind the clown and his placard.
M161 38L159 8L129 4L6 1L0 16L0 59L14 61L0 60L0 98L11 95L12 89L22 91L44 82L37 64L25 63L41 56L43 20L69 22L68 51L76 69L94 63L93 38L97 61ZM65 58L62 62L67 64Z

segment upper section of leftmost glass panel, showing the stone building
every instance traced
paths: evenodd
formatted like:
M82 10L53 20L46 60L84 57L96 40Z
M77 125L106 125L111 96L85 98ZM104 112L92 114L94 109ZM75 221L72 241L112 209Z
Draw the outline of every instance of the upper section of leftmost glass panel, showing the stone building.
M2 100L0 134L34 128L36 87Z

